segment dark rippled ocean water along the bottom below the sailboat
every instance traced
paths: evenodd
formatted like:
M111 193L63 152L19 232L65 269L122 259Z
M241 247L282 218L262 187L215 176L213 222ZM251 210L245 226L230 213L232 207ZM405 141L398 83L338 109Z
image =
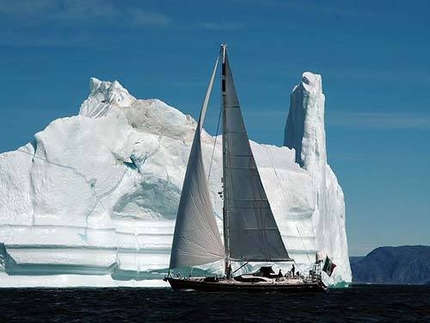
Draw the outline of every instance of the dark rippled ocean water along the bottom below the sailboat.
M358 286L307 295L0 289L0 322L430 322L430 286Z

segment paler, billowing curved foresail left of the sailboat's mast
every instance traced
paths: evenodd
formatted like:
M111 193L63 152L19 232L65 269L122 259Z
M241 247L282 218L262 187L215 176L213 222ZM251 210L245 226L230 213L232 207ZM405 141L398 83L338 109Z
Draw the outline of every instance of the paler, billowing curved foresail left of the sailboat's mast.
M217 63L212 73L188 159L176 216L170 268L196 266L224 258L224 246L209 196L200 141Z

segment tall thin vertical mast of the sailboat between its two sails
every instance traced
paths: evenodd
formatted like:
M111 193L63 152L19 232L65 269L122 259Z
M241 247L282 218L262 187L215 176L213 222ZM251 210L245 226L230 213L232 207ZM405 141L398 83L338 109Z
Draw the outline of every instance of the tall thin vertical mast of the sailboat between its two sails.
M221 52L222 52L222 64L221 64L221 93L222 93L222 164L223 164L223 209L222 209L222 215L223 215L223 231L224 231L224 248L225 248L225 274L227 278L230 278L231 275L231 265L230 265L230 229L229 229L229 222L228 222L228 206L227 206L227 174L225 171L225 165L227 154L226 154L226 113L225 113L225 106L226 106L226 55L227 55L227 44L221 44Z

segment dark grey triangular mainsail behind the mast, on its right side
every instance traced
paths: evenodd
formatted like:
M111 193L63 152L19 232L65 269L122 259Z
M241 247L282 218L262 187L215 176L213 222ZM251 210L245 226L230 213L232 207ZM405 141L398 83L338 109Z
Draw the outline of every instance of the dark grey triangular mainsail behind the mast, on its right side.
M249 144L227 53L224 93L224 226L229 257L243 261L289 259Z

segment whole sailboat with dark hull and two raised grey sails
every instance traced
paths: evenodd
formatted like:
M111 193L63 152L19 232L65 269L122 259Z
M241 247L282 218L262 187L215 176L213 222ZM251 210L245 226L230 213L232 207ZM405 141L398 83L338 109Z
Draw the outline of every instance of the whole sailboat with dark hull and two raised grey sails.
M201 150L201 131L209 98L221 59L222 151L223 151L223 235L214 217ZM178 268L192 268L224 262L224 275L182 277L172 274ZM235 276L249 262L293 261L285 248L252 154L233 76L222 44L200 112L188 159L173 236L169 274L165 277L174 290L211 292L321 292L317 261L309 275L275 273L271 266ZM234 271L232 267L237 267ZM293 266L294 268L294 266Z

